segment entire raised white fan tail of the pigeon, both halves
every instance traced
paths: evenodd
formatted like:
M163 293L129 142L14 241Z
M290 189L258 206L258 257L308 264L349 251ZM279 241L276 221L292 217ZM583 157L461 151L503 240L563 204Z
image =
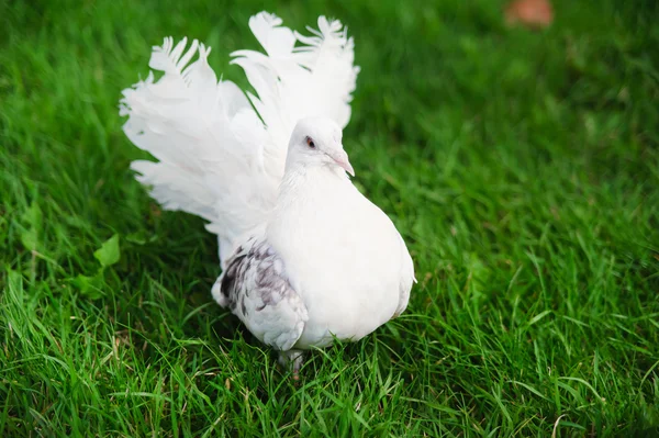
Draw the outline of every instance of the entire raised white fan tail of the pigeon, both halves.
M323 115L345 126L359 72L353 40L338 21L321 16L320 31L303 36L261 12L249 27L267 54L232 54L256 91L249 100L235 83L217 82L206 61L210 47L196 40L186 52L187 38L174 46L168 37L148 64L164 76L156 81L149 72L120 103L126 136L158 160L134 161L137 179L163 207L209 221L222 261L264 225L298 120Z

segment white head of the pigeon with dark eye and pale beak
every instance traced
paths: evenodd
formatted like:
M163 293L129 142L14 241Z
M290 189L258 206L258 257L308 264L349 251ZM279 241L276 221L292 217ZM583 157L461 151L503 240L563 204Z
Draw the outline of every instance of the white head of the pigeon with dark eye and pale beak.
M343 149L340 127L327 117L302 119L295 125L289 143L287 167L332 166L355 176Z

